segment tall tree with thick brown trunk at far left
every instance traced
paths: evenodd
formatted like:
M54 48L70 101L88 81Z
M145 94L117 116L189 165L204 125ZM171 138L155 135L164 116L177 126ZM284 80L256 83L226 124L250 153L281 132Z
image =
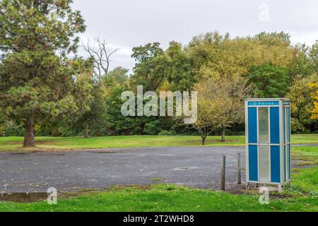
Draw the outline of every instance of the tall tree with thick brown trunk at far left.
M70 56L78 49L76 35L86 27L71 3L0 2L1 97L5 111L25 123L24 147L35 145L35 121L71 113L79 107L74 97L76 76L85 62Z

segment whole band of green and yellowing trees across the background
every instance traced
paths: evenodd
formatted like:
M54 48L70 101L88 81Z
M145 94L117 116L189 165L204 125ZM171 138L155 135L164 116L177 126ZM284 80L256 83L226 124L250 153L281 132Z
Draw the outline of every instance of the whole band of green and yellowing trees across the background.
M86 25L71 0L0 2L0 131L6 136L120 136L244 131L247 97L289 97L293 132L318 129L318 42L292 44L285 32L196 35L182 45L132 49L134 71L110 70L114 51L81 43ZM78 55L83 48L89 57ZM198 91L198 120L124 117L126 90Z

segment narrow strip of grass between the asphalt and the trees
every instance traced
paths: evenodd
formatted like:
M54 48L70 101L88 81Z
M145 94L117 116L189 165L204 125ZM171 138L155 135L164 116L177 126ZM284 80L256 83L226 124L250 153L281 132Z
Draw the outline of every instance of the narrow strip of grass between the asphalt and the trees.
M227 136L225 143L220 136L209 136L206 145L245 145L245 136ZM76 148L131 148L159 146L199 146L199 136L105 136L105 137L37 137L37 148L76 149ZM295 143L318 143L318 134L293 135ZM1 137L0 151L16 150L23 144L22 137Z

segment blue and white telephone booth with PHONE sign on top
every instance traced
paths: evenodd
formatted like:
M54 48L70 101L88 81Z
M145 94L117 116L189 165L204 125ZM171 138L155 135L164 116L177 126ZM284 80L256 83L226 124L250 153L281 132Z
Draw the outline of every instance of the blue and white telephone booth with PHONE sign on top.
M246 180L290 183L290 100L247 99L245 102Z

